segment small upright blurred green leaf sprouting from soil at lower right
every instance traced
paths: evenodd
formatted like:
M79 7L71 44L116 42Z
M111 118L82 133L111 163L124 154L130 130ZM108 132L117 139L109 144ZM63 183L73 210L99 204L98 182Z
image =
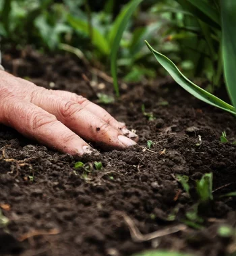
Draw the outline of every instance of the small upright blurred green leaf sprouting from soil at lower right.
M196 188L201 202L207 202L213 199L212 178L212 173L204 174L201 180L196 181Z

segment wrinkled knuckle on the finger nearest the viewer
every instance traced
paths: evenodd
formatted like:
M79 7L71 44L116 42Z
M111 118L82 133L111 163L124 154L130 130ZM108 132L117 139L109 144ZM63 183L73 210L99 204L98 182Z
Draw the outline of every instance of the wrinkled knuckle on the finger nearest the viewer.
M49 127L55 124L55 122L57 122L57 118L47 112L46 113L34 112L34 113L30 113L29 122L33 130L38 130L40 128Z

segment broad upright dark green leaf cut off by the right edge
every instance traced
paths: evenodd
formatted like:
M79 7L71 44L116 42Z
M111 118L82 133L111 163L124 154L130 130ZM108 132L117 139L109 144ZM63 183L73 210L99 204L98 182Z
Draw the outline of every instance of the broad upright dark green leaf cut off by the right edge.
M225 70L225 80L229 97L236 106L236 1L221 0L221 16L223 30L223 61Z

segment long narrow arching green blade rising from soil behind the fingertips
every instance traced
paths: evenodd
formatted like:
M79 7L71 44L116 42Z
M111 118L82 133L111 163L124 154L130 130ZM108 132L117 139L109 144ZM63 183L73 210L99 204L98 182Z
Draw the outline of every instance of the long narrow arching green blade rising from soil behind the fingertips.
M117 97L119 97L119 86L117 79L117 53L119 50L119 44L121 42L121 38L123 36L123 32L131 18L132 14L136 10L136 7L142 2L142 0L133 0L125 6L125 11L122 12L122 16L119 17L119 22L115 25L115 30L113 27L113 31L115 32L115 38L112 39L111 36L112 48L111 48L111 74L114 80L114 88Z

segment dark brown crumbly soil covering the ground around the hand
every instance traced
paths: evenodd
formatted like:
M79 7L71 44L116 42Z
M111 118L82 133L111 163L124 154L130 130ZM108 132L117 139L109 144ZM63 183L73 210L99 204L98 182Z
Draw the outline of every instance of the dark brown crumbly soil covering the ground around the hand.
M54 82L54 89L94 99L82 79L82 65L71 57L5 55L5 67L40 86L50 88ZM104 83L105 88L100 84L95 90L111 93L112 84ZM233 238L217 231L222 225L236 228L235 197L219 197L236 190L236 146L220 143L224 130L231 142L236 140L235 118L167 79L129 84L121 93L119 102L102 107L135 129L140 143L126 151L101 151L98 159L51 151L0 126L0 207L9 218L8 226L0 229L0 255L121 256L155 248L211 256L235 252ZM148 121L142 104L156 120ZM145 149L147 140L154 143L150 150ZM104 169L95 170L94 160L102 161ZM76 170L76 161L88 163L92 172ZM187 226L146 242L131 238L124 216L142 234L183 223L198 201L195 180L209 172L214 201L200 209L204 228ZM191 197L177 174L189 176ZM169 220L177 208L175 220Z

